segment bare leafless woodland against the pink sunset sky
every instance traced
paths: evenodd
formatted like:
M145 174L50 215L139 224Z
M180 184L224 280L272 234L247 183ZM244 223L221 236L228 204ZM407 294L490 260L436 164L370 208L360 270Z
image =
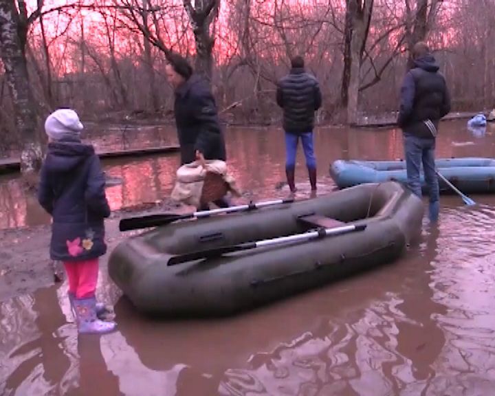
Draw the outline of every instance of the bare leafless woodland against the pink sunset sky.
M395 110L419 40L434 50L454 108L495 105L494 0L232 0L221 17L219 0L37 4L28 16L25 0L0 3L0 126L18 131L25 153L36 153L36 111L59 102L83 116L168 110L170 89L159 87L172 51L196 54L229 120L278 121L275 84L295 54L320 80L320 121L342 106L349 123L358 109ZM82 24L91 12L102 17Z

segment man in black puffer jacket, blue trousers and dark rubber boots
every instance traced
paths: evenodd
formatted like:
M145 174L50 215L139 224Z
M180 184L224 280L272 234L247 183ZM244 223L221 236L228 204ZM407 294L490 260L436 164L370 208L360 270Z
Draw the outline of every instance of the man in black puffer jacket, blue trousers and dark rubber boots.
M318 80L305 71L304 59L291 60L290 73L278 82L276 100L283 109L285 130L285 174L291 192L296 192L294 169L299 137L303 142L311 191L316 192L316 157L313 147L314 112L321 107Z

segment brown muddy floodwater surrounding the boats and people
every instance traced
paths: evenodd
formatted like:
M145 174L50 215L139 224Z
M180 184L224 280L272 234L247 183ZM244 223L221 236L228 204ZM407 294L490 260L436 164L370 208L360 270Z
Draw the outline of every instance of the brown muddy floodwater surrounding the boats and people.
M175 142L173 130L159 134ZM280 129L225 136L243 190L236 202L287 195ZM335 159L404 157L397 129L319 128L315 139L318 195L335 188ZM494 146L495 124L444 122L437 157L495 157ZM107 188L111 208L163 199L178 164L177 154L105 161L122 181ZM297 199L309 197L302 152L296 185ZM0 395L493 395L495 196L470 197L476 206L441 196L439 223L425 219L395 263L232 318L144 318L109 279L104 256L98 297L115 306L118 331L78 337L67 281L12 281L0 293ZM14 176L1 177L0 228L30 228L4 231L12 241L0 241L0 287L15 257L19 268L45 265L49 222ZM111 248L117 223L107 222Z

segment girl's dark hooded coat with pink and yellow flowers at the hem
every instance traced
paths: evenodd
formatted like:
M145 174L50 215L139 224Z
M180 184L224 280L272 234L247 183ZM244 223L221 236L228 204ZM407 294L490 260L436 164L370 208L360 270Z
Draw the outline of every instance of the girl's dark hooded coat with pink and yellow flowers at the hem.
M109 217L110 208L104 185L93 146L69 141L48 144L38 200L53 217L53 260L85 261L107 251L103 219Z

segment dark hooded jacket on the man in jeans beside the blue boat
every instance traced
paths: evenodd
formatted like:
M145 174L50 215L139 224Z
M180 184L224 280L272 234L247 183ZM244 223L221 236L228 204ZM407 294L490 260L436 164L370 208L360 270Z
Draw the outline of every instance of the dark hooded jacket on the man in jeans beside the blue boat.
M432 55L415 60L415 67L404 77L397 124L404 133L432 137L423 121L438 129L439 120L450 111L450 94L439 65Z

